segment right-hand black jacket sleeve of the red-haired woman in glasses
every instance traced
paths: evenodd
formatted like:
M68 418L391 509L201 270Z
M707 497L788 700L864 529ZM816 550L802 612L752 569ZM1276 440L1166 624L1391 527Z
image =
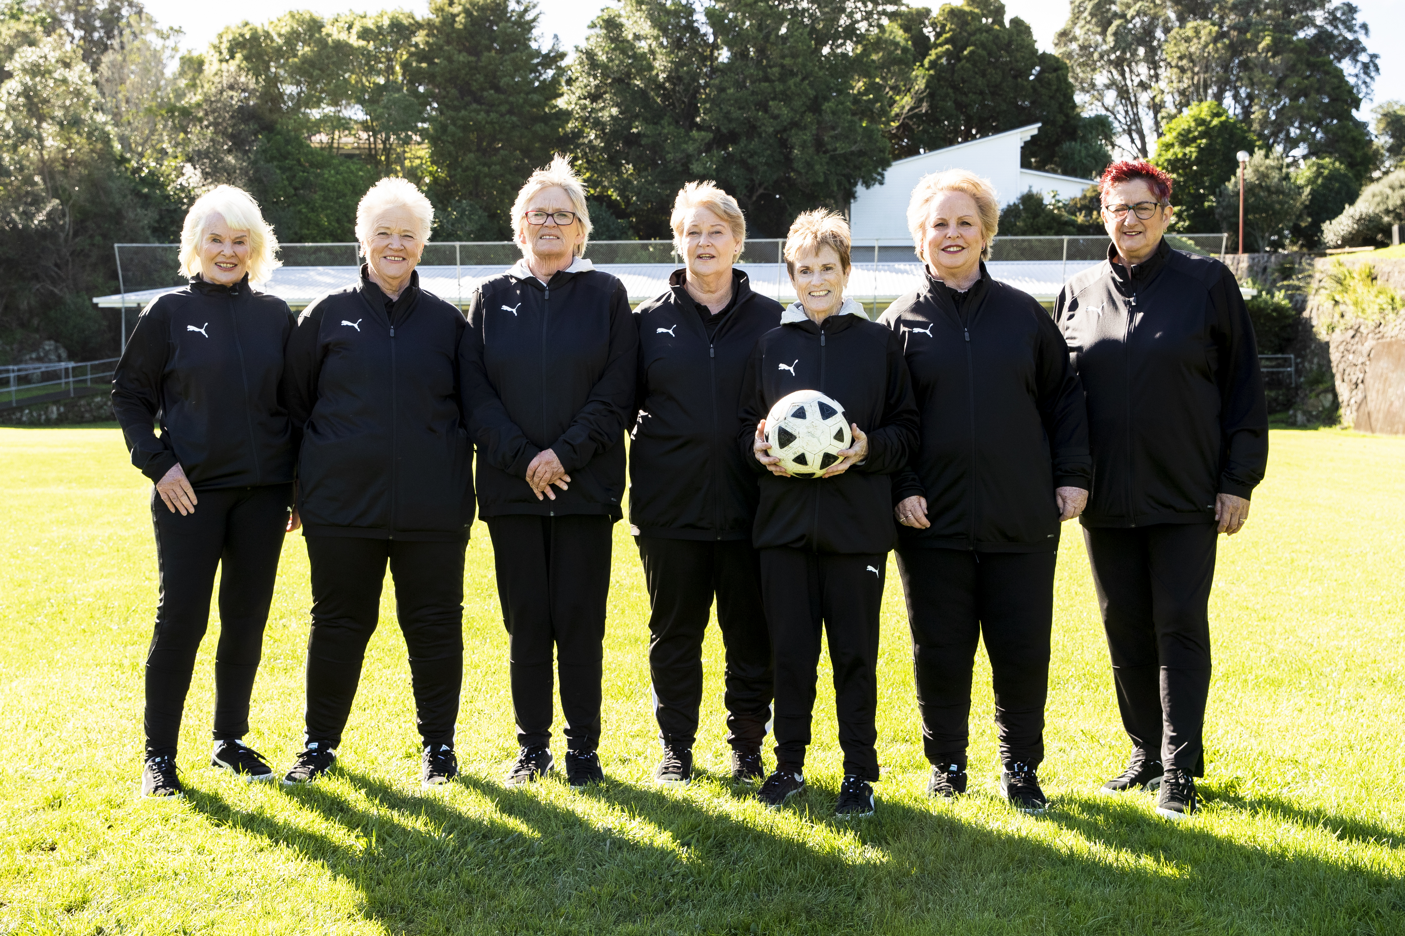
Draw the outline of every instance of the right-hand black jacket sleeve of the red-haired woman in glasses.
M1210 303L1220 352L1220 493L1248 498L1269 464L1269 403L1249 309L1228 267L1210 288Z

